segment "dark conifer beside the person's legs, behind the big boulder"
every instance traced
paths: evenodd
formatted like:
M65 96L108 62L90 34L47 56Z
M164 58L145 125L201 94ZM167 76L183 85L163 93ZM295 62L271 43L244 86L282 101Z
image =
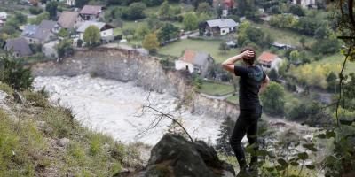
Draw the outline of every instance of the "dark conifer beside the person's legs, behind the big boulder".
M229 143L231 135L233 133L233 127L235 122L231 119L231 117L227 117L225 121L219 126L219 134L216 140L216 150L224 153L227 156L233 155L233 149Z

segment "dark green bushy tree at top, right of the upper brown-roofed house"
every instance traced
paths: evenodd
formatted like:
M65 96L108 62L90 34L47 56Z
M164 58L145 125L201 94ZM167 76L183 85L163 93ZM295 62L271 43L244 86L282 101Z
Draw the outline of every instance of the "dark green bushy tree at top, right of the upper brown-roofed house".
M146 17L145 10L146 4L132 3L130 6L122 9L122 18L130 20L143 19Z

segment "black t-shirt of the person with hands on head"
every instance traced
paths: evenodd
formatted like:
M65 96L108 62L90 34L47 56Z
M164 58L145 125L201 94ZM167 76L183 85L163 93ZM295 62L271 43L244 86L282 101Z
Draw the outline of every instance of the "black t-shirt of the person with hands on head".
M252 109L260 105L259 89L266 74L259 65L237 66L234 65L234 73L241 76L239 81L239 106L240 109Z

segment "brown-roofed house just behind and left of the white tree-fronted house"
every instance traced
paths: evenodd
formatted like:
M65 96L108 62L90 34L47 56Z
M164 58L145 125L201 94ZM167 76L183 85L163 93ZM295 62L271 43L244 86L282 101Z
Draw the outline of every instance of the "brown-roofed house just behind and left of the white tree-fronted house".
M62 12L59 16L58 24L62 28L73 29L80 21L79 12Z

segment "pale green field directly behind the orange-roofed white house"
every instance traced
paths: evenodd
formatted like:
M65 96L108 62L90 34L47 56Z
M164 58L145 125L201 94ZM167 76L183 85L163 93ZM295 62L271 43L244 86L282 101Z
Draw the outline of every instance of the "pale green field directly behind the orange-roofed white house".
M172 42L158 50L158 53L180 57L184 50L199 50L209 53L216 63L222 63L225 59L233 57L239 52L239 49L231 49L225 54L218 50L219 44L222 41L202 41L185 39L177 42Z

